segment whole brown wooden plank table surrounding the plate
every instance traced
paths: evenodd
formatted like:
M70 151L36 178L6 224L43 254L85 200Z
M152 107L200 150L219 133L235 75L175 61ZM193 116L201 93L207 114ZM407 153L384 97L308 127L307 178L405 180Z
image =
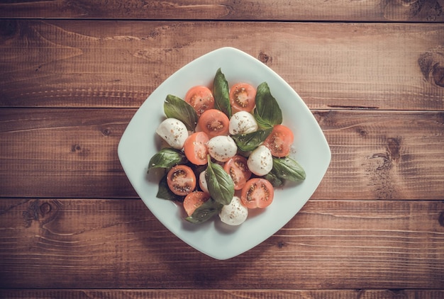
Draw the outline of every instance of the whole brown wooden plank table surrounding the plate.
M4 1L1 298L443 298L444 1ZM331 147L291 221L226 261L175 237L117 157L150 93L237 47Z

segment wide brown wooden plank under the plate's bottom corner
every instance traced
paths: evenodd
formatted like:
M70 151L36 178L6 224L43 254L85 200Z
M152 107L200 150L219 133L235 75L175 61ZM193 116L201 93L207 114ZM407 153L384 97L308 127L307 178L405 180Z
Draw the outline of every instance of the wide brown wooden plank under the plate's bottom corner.
M184 244L137 199L0 205L0 288L444 289L443 201L309 201L226 261Z

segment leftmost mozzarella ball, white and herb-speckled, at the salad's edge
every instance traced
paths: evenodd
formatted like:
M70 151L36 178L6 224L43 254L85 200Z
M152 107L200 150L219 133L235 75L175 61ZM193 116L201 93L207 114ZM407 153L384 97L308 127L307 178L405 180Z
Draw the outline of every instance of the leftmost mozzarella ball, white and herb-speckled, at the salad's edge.
M167 118L162 121L156 129L157 135L162 137L170 147L174 147L177 150L182 150L185 140L188 137L187 127L182 121L176 118Z

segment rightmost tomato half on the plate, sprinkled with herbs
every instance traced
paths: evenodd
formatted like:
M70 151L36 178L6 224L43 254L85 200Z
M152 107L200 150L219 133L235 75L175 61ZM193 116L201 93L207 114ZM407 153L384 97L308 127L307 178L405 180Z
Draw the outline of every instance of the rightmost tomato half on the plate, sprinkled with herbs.
M270 149L274 157L286 157L290 153L294 135L285 125L274 125L272 132L265 139L263 145Z

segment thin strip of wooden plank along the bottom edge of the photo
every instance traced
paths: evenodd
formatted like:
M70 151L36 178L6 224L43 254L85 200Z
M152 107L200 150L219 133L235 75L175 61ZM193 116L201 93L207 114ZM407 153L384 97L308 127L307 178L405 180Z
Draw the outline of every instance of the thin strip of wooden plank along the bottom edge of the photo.
M436 299L444 296L444 290L0 290L2 298L132 298L132 299Z

